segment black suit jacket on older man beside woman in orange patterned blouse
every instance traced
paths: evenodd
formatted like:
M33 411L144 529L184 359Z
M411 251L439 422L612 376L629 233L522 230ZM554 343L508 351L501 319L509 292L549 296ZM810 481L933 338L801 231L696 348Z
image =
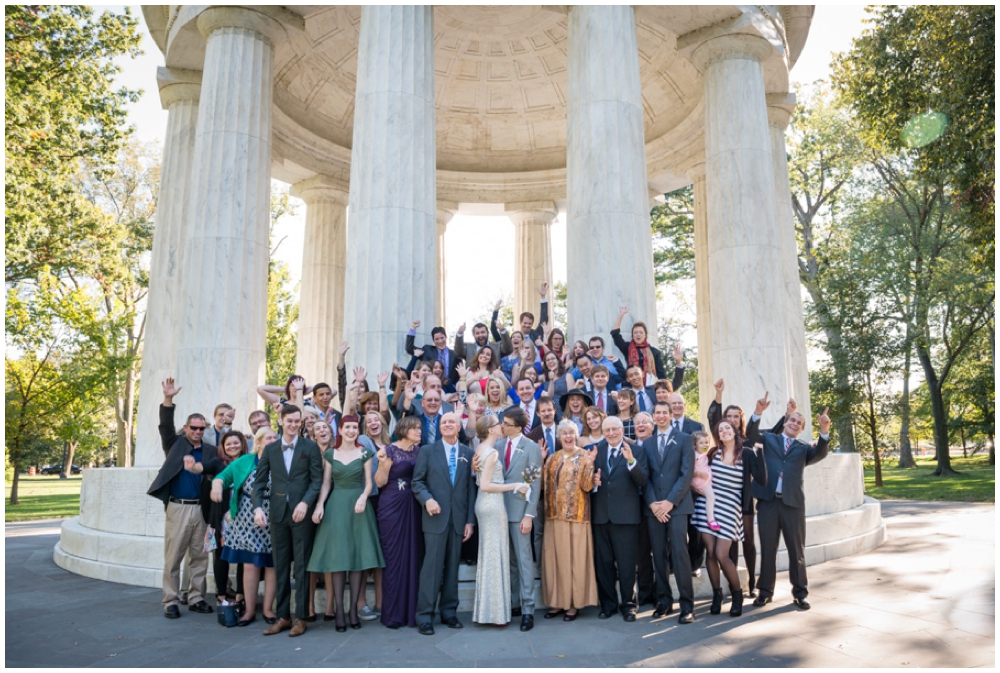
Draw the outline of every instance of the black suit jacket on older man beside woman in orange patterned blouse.
M635 466L629 470L625 458L619 454L618 461L608 474L608 443L603 441L597 445L597 457L594 459L594 472L601 471L601 485L590 494L591 523L642 523L642 496L640 489L646 485L648 472L646 468L646 452L642 446L628 439L624 440L632 447Z

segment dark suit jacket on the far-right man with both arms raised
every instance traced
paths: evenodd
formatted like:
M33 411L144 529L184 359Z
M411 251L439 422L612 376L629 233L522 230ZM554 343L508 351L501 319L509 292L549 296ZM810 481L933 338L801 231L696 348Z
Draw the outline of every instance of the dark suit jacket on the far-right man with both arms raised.
M764 469L766 471L766 483L755 482L753 485L753 497L758 500L774 500L774 493L778 486L778 476L781 479L781 499L789 507L805 507L806 498L802 489L802 473L806 465L812 465L826 458L829 452L829 438L819 438L816 446L810 446L798 439L793 439L785 453L783 435L776 435L773 432L760 432L758 423L760 419L751 420L747 424L747 437L754 444L760 442L764 445L761 451Z

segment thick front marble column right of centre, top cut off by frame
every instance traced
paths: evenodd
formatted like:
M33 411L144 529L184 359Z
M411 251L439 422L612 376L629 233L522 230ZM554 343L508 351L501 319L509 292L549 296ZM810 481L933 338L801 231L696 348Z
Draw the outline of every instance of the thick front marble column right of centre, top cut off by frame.
M631 6L574 6L567 66L567 285L569 338L649 326L656 288L646 183L642 86ZM610 179L609 179L610 178ZM613 350L613 349L610 349Z

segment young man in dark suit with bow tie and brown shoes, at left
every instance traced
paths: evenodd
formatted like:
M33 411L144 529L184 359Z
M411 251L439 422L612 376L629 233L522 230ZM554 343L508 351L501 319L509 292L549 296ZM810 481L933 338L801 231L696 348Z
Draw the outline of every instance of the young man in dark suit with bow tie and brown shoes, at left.
M261 528L271 527L271 549L278 584L278 621L264 631L264 635L271 636L291 628L288 635L300 636L306 631L309 603L306 563L312 554L316 533L310 515L323 484L323 457L315 442L299 437L302 411L297 406L286 404L282 407L280 424L281 438L264 447L253 483L254 522ZM270 512L265 512L262 502L268 478L271 480L271 506ZM294 624L289 605L293 564Z

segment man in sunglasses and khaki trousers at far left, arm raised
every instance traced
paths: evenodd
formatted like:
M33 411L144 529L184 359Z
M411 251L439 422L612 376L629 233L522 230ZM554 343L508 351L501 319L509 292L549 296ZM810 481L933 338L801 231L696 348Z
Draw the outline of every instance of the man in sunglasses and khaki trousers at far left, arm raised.
M181 562L188 557L191 572L191 589L188 593L188 610L212 612L205 602L205 576L208 572L208 553L204 551L205 515L202 467L218 457L218 450L202 442L208 422L201 414L187 418L181 434L174 425L174 396L180 392L173 379L163 382L163 404L160 405L160 440L166 459L160 467L153 485L147 493L163 501L167 509L167 522L163 533L163 616L177 619Z

